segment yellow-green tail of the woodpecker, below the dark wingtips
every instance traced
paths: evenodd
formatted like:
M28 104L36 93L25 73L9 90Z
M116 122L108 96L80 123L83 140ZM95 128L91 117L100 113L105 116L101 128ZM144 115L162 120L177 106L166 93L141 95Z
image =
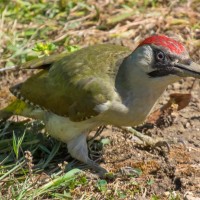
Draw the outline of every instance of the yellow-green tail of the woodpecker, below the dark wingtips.
M25 102L16 99L8 106L0 110L0 121L5 121L12 115L20 115L26 107L27 106Z

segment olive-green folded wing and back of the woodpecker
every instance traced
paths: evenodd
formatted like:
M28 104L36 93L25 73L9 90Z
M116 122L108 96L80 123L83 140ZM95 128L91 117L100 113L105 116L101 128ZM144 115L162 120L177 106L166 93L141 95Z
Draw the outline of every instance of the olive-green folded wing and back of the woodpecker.
M17 90L25 99L58 115L81 121L99 114L95 106L117 98L115 75L129 54L125 47L96 45L55 57L52 64L36 62L31 68L44 69L11 91Z

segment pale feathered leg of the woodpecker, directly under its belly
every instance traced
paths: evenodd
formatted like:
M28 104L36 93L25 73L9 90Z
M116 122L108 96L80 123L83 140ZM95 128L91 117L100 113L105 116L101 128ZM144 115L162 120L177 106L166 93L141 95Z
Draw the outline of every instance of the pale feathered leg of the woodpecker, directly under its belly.
M87 134L81 134L78 137L68 141L68 151L73 158L85 163L90 169L96 171L100 177L103 177L107 173L107 170L100 167L88 157L86 138Z

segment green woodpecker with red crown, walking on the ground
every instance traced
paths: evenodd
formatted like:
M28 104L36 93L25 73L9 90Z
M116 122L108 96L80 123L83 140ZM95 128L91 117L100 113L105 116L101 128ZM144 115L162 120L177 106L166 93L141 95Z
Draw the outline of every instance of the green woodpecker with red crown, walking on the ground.
M91 130L139 125L169 84L200 78L200 65L181 42L166 35L151 35L133 51L97 44L39 58L25 68L39 72L10 87L16 99L0 111L0 119L21 115L43 121L73 158L101 176L107 170L88 156Z

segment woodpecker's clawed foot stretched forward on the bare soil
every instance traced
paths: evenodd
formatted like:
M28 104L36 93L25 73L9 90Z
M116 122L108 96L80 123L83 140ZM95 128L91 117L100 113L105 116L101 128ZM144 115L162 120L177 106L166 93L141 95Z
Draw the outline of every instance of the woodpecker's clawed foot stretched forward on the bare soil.
M181 143L184 148L186 148L186 144L183 140L180 139L173 139L173 140L165 140L164 138L152 138L148 135L144 135L132 127L123 127L123 130L126 130L133 134L134 137L137 138L137 140L134 140L138 145L143 145L151 148L156 147L167 147L168 152L170 151L170 145L175 143Z

